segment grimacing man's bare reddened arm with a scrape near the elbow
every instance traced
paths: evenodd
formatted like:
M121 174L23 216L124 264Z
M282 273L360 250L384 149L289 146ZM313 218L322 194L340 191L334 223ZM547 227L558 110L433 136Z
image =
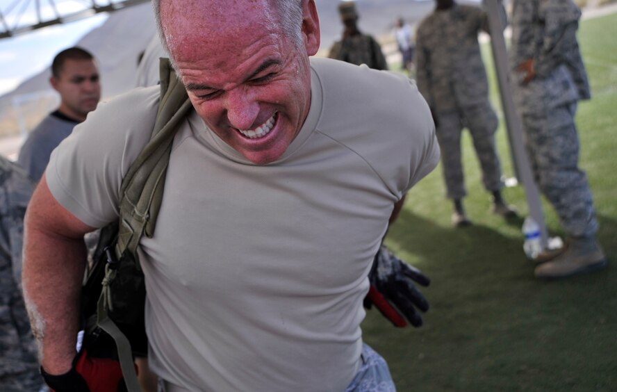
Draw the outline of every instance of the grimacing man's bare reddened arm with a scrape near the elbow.
M76 354L83 235L92 230L56 202L43 176L26 211L22 280L41 364L49 374L67 372Z

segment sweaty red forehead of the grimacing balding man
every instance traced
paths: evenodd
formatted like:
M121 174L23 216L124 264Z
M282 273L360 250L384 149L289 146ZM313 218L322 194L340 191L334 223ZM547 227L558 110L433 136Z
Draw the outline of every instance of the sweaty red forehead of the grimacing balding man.
M250 40L255 32L273 32L279 25L276 15L270 0L161 1L161 24L172 52L199 43L222 47L229 40Z

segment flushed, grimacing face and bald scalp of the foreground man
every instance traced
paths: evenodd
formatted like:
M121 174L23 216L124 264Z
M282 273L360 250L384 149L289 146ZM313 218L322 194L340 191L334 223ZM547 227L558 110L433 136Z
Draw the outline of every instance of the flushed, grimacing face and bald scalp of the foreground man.
M281 33L268 3L161 2L165 37L195 110L257 165L276 161L304 124L311 103L308 56L319 47L313 0L304 2L299 45Z

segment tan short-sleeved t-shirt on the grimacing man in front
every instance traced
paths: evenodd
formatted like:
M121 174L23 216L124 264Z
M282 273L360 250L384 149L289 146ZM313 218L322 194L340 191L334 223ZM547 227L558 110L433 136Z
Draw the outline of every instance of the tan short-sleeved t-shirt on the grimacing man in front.
M439 149L404 76L311 67L309 116L279 161L249 163L195 113L174 139L140 252L151 367L171 391L343 391L354 377L372 258ZM52 154L49 188L86 224L117 219L157 104L156 88L102 104Z

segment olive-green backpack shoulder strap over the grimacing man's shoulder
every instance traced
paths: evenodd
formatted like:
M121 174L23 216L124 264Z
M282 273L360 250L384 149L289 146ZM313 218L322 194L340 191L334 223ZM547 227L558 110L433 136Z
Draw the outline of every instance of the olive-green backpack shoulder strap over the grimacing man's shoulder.
M158 113L150 141L122 179L120 219L113 252L116 260L134 263L138 270L137 247L144 234L154 234L174 135L191 107L186 90L176 78L169 60L161 58L161 100ZM130 392L137 392L140 386L133 366L131 344L108 313L113 306L110 283L116 273L115 267L110 267L110 264L106 266L101 297L97 304L97 325L114 339L126 387Z

